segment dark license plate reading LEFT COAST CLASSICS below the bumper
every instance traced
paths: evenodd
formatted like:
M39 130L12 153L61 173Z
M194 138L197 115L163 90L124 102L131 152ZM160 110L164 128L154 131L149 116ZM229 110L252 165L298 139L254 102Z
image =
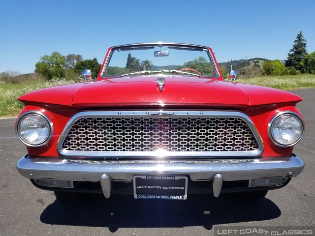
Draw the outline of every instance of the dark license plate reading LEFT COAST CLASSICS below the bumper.
M133 193L136 199L187 199L185 176L134 176Z

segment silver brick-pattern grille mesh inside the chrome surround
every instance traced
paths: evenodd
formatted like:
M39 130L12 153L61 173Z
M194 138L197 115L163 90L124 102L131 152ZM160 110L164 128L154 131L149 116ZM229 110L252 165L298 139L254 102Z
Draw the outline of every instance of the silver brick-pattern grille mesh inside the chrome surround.
M258 148L241 118L80 118L64 139L72 151L251 151Z

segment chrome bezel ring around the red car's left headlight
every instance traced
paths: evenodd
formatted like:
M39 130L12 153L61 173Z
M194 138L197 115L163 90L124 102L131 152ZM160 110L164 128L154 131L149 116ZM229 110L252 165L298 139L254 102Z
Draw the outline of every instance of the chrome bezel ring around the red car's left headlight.
M48 127L48 132L47 132L47 135L46 135L46 138L44 138L41 142L38 142L37 144L31 144L31 143L28 143L26 141L25 138L22 137L21 133L20 133L20 124L21 124L21 121L29 116L37 116L41 119L43 119L46 123L47 123L47 127ZM53 123L51 122L51 120L42 112L39 112L39 111L29 111L29 112L25 112L23 113L21 116L19 116L17 118L17 121L16 121L16 125L15 125L15 132L18 136L18 138L21 140L21 142L29 147L42 147L44 145L46 145L52 138L52 135L53 135Z

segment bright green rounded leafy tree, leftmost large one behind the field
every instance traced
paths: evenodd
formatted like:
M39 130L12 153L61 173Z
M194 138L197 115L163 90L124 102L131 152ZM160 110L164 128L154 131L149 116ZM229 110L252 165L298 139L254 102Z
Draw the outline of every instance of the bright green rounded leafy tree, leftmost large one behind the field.
M47 80L64 77L64 57L58 52L42 56L35 67L35 72L42 74Z

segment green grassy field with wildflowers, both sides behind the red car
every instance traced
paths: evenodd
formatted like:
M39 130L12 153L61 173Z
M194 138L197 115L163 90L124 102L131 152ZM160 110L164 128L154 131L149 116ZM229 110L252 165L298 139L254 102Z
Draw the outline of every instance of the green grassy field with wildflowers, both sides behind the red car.
M263 76L250 79L238 79L236 82L260 85L275 89L315 88L315 75ZM23 108L17 98L27 92L52 86L74 83L67 80L47 82L42 79L28 80L21 84L0 83L0 117L15 117Z

